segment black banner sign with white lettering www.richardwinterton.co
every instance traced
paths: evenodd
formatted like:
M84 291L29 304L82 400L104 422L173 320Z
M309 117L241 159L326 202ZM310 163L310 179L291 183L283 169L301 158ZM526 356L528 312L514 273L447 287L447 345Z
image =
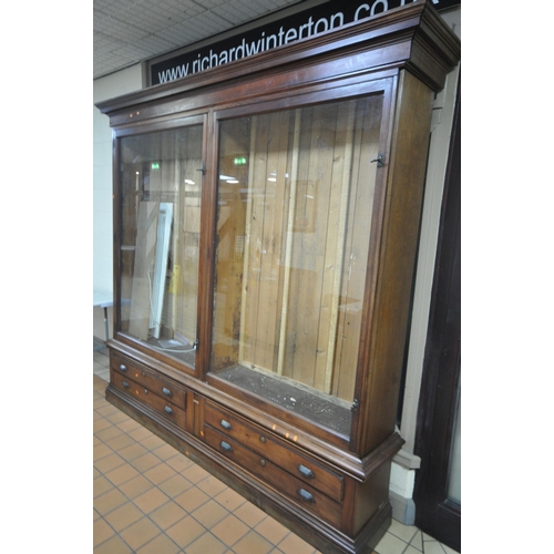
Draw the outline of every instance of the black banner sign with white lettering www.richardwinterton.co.
M161 62L151 61L150 85L183 79L258 52L315 37L412 1L416 0L368 0L367 2L331 0L244 33L238 32L202 49L176 54ZM461 4L461 0L432 0L432 3L438 10L443 10Z

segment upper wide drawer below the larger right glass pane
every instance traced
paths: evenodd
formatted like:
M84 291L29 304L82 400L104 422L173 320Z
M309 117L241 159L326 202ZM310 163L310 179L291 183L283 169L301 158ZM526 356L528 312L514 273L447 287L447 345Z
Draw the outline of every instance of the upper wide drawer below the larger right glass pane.
M283 468L295 478L324 492L331 499L338 502L342 500L343 478L341 475L295 452L278 439L250 428L230 413L208 402L206 402L205 409L205 423L260 454L265 460L270 460L277 466Z

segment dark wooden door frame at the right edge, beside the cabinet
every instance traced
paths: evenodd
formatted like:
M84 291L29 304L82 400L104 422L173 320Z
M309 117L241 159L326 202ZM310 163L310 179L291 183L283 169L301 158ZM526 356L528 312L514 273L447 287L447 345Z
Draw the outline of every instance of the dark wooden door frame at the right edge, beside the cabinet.
M460 386L461 85L450 144L414 453L421 458L413 499L416 524L460 551L461 506L448 499L452 435Z

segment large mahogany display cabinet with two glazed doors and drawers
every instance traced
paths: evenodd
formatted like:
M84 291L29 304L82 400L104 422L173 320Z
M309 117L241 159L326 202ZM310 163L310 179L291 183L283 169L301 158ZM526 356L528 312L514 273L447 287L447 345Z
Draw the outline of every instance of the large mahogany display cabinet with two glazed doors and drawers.
M106 398L321 552L390 523L431 107L459 58L416 2L99 104Z

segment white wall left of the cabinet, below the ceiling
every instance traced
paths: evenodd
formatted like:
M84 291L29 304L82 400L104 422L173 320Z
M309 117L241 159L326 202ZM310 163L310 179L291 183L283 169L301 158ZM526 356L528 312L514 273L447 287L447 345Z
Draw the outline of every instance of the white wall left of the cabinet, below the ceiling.
M142 89L142 66L133 65L93 81L93 102L100 102ZM112 130L106 115L93 105L93 287L113 291L112 224ZM109 310L112 327L112 309ZM93 335L104 338L104 315L93 309ZM113 329L110 329L110 336Z

